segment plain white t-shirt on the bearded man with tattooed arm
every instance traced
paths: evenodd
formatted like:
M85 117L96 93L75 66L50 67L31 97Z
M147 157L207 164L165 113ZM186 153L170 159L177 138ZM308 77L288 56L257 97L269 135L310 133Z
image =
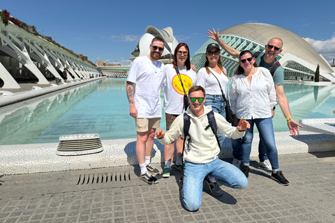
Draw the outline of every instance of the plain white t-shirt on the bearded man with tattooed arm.
M162 116L163 68L163 63L151 61L147 56L137 57L131 63L127 81L135 83L133 86L137 118Z

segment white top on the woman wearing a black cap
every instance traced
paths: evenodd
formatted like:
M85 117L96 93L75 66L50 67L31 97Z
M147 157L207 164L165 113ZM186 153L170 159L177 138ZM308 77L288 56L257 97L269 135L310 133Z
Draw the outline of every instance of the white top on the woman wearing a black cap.
M209 68L211 72L214 73L215 77L218 78L222 91L225 94L225 99L229 100L228 98L228 91L227 91L227 85L228 85L228 77L221 72L221 74L218 74L213 69ZM225 73L227 71L225 68L223 68ZM211 73L207 74L206 68L201 68L198 71L198 77L197 77L197 86L202 86L204 88L204 91L206 91L207 95L222 95L220 86L218 85L218 80L215 78Z

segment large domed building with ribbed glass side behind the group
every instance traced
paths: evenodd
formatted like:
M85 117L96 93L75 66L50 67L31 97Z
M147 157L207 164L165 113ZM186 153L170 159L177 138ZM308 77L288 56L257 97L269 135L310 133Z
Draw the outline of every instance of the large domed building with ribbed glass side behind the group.
M246 23L232 26L219 33L220 38L238 51L265 51L265 45L271 38L283 40L283 51L278 54L277 60L284 68L284 79L309 78L320 65L320 75L324 80L335 82L335 73L325 58L300 36L279 26L263 23ZM206 47L214 40L209 39L200 47L191 59L197 69L204 66ZM223 66L227 69L228 76L232 77L238 66L238 59L230 56L221 49Z

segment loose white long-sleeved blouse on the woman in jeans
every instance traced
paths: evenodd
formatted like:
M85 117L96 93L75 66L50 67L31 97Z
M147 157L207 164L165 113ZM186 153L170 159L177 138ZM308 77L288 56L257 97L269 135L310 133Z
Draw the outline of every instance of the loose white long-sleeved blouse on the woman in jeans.
M234 75L229 97L232 114L239 119L269 118L277 104L274 80L266 68L258 68L250 84L246 76Z

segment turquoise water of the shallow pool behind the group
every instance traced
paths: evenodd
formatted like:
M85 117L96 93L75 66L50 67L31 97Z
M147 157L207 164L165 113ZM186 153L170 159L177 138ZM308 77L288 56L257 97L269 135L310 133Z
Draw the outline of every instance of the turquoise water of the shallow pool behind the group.
M98 133L101 139L135 138L129 116L126 79L107 78L75 89L59 91L0 109L0 144L58 142L60 135ZM284 84L296 121L300 118L335 118L335 85ZM163 101L163 91L161 92ZM163 105L163 103L162 103ZM165 130L165 115L161 128ZM277 106L274 130L287 131ZM288 132L289 134L289 132Z

